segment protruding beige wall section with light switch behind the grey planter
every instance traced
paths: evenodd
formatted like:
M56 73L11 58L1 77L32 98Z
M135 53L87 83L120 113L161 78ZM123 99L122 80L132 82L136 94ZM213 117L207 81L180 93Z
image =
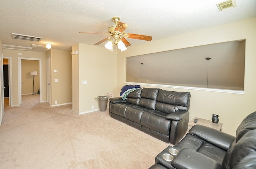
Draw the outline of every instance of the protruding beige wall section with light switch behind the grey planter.
M83 114L99 109L97 96L111 92L118 96L117 55L104 47L78 43L72 46L72 51L78 51L72 56L73 67L73 110ZM88 84L82 85L82 81ZM94 106L94 110L92 109Z

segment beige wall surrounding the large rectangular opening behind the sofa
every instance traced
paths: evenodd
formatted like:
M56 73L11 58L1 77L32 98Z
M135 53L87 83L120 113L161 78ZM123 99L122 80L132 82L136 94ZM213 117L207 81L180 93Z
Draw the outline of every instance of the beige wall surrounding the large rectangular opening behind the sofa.
M223 123L222 131L235 135L236 128L242 119L248 114L256 111L255 30L256 18L251 18L240 22L185 33L158 41L143 43L142 45L131 46L128 50L122 52L121 55L118 56L117 90L119 91L122 86L127 85L127 83L124 83L125 57L246 39L244 78L245 94L171 88L168 86L161 87L157 85L141 85L142 87L156 87L164 90L189 91L191 93L189 110L190 120L194 117L211 120L212 114L218 114L220 116L220 122Z

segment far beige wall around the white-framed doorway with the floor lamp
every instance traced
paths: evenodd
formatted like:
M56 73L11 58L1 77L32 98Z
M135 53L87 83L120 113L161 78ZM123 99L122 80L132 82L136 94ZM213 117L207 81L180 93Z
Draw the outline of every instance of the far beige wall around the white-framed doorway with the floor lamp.
M18 55L22 53L22 55ZM41 59L42 62L42 90L40 95L42 102L46 102L46 52L22 51L3 49L4 57L12 57L12 105L19 106L18 102L18 57Z

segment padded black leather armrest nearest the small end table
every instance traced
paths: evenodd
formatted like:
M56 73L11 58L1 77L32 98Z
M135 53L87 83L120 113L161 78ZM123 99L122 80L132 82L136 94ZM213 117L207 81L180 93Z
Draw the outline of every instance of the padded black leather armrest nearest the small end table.
M230 144L235 140L234 136L199 124L193 126L189 133L225 150L228 150Z

